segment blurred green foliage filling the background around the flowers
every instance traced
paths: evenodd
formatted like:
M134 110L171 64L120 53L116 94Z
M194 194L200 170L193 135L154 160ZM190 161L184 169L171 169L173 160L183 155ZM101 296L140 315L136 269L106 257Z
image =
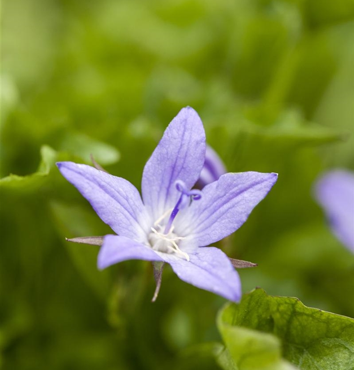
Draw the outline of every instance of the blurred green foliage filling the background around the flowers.
M354 169L353 26L350 0L1 1L2 368L218 369L191 349L220 340L224 299L166 268L152 304L148 262L97 271L65 237L109 228L54 166L92 153L139 188L186 105L229 171L279 173L219 243L258 263L244 292L353 317L353 256L312 196L321 171Z

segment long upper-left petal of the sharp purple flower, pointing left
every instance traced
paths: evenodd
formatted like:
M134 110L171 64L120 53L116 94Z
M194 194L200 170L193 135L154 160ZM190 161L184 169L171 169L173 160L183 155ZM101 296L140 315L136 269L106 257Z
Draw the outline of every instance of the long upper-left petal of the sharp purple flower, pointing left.
M59 162L57 166L114 232L142 242L146 240L148 227L142 226L146 211L134 185L85 164Z

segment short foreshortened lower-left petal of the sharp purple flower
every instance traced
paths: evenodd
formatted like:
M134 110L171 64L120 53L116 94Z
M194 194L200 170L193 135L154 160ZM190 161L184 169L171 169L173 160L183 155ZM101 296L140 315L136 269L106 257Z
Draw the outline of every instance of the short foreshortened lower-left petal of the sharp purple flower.
M163 261L151 248L120 235L106 235L97 259L99 269L127 259Z

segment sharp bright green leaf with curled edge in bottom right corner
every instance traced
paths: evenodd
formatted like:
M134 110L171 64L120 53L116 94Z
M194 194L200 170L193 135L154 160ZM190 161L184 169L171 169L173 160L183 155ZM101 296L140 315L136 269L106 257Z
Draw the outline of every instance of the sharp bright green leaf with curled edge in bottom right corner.
M295 369L285 360L303 370L353 369L354 320L297 298L256 289L227 304L217 324L235 363L224 369Z

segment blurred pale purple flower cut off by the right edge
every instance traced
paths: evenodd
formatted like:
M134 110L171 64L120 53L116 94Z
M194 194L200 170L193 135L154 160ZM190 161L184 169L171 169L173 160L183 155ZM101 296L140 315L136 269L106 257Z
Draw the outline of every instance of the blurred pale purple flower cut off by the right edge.
M327 172L320 177L315 190L333 233L354 252L354 173Z

